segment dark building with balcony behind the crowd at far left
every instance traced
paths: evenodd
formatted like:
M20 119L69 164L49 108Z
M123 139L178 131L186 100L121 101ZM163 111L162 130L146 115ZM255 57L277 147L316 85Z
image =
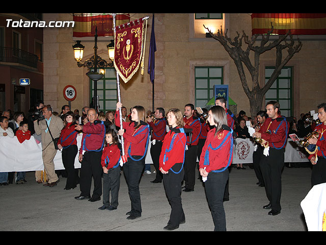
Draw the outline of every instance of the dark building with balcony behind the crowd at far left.
M27 115L43 100L43 28L22 24L41 19L42 14L0 13L0 111Z

